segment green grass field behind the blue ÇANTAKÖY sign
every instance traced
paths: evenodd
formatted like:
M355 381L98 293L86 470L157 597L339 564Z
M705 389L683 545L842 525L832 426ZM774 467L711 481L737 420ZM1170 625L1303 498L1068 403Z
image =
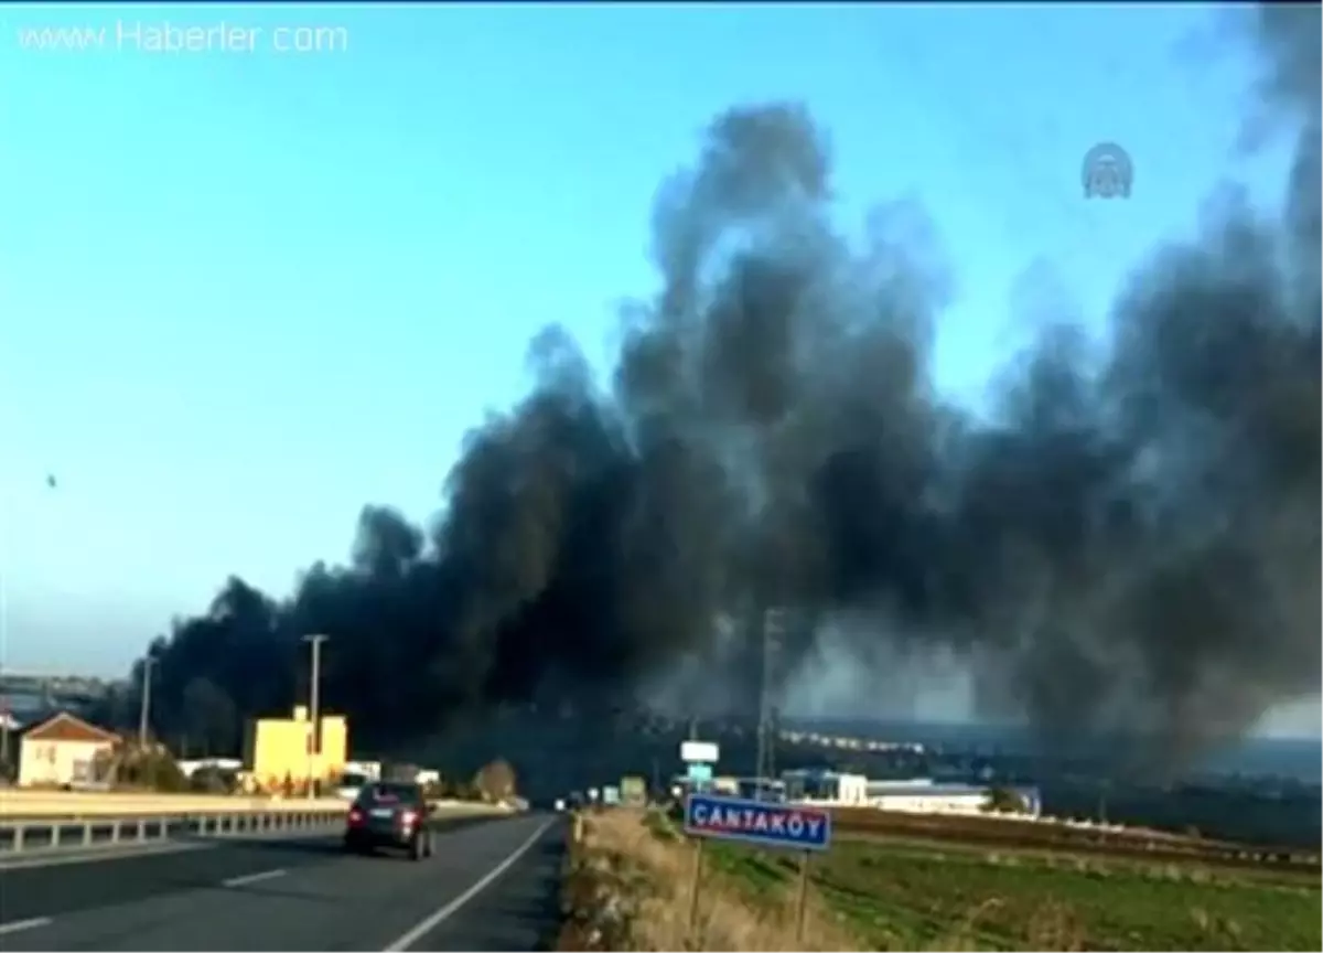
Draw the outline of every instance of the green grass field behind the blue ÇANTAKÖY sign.
M798 860L729 844L714 871L785 904ZM815 858L823 901L877 950L1316 953L1316 879L1070 854L851 840Z

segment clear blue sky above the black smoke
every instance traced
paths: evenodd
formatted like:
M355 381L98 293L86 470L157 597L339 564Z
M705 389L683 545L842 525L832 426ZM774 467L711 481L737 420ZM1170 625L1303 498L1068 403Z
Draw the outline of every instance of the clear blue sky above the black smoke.
M364 502L439 504L467 426L561 322L605 360L655 289L658 184L737 103L806 102L841 222L909 196L958 300L943 386L976 397L1052 269L1101 320L1191 232L1248 65L1191 56L1208 8L4 8L0 446L9 664L116 672L228 573L286 592ZM257 28L250 53L116 49L116 24ZM345 49L274 49L279 26ZM106 28L34 50L32 28ZM30 37L30 33L26 34ZM26 48L25 48L26 46ZM1129 148L1126 203L1084 152ZM44 478L58 475L56 491Z

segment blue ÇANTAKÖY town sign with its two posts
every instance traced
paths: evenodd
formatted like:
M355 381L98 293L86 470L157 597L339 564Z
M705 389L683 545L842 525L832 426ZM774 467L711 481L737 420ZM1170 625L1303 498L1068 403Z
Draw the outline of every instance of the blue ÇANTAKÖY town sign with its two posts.
M689 895L689 933L699 919L703 842L737 840L755 847L802 852L795 897L795 937L804 938L808 911L810 860L831 847L831 811L807 805L747 801L718 794L689 794L684 801L684 833L696 839Z

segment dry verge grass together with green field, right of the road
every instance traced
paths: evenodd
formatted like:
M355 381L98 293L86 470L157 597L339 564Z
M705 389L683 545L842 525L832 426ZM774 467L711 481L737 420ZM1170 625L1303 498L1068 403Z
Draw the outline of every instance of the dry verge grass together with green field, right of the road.
M709 843L697 946L692 856L662 814L587 815L558 953L1316 953L1323 936L1323 879L1307 872L840 831L814 860L804 946L798 858Z

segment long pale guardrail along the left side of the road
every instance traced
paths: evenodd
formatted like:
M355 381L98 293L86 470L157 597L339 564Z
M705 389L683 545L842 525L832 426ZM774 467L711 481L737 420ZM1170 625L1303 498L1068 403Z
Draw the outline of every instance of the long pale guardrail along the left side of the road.
M0 822L0 859L36 851L132 846L156 840L280 834L344 823L345 809L32 818Z

